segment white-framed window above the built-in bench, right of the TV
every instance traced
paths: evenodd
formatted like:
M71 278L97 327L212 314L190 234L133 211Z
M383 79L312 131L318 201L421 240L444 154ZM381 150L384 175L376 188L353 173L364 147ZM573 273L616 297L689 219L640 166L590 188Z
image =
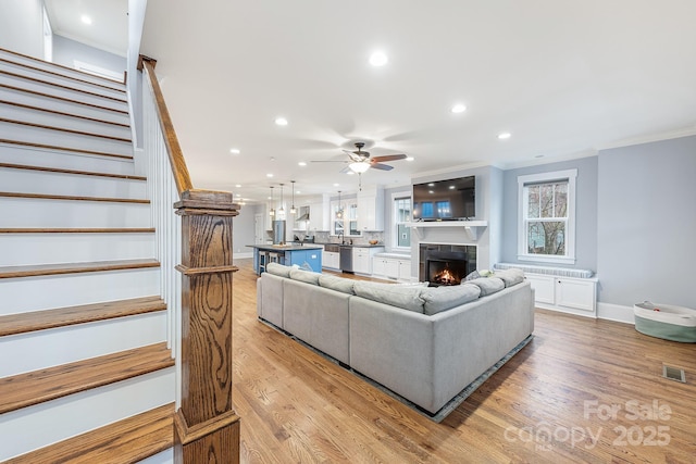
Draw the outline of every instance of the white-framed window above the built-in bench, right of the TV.
M575 262L575 177L577 170L518 177L518 259Z

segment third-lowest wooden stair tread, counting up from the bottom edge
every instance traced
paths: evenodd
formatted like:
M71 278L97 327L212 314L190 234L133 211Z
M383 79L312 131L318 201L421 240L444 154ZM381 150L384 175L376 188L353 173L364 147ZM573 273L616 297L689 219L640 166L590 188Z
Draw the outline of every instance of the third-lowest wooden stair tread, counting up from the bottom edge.
M144 297L0 316L0 337L165 311L160 297Z

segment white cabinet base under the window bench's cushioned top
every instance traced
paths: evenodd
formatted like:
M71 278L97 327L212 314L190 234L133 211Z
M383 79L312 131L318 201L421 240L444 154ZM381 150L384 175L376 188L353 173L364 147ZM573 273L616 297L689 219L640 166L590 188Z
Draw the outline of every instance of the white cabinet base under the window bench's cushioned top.
M539 308L595 316L597 279L525 273Z

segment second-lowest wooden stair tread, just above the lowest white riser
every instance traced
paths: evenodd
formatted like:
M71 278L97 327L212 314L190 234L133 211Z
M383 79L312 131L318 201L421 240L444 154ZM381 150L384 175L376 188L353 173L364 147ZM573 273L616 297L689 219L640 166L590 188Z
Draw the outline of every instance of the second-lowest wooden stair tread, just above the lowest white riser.
M166 342L0 378L0 414L174 365Z

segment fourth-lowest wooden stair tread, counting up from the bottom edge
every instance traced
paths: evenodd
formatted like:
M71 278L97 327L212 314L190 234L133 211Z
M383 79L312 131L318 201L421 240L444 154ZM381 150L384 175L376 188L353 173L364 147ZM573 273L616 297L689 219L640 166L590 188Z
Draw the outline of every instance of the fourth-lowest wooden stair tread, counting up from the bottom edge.
M157 260L117 260L97 261L91 263L59 263L36 264L30 266L4 266L0 267L0 278L36 277L60 274L95 273L102 271L138 269L145 267L159 267Z

